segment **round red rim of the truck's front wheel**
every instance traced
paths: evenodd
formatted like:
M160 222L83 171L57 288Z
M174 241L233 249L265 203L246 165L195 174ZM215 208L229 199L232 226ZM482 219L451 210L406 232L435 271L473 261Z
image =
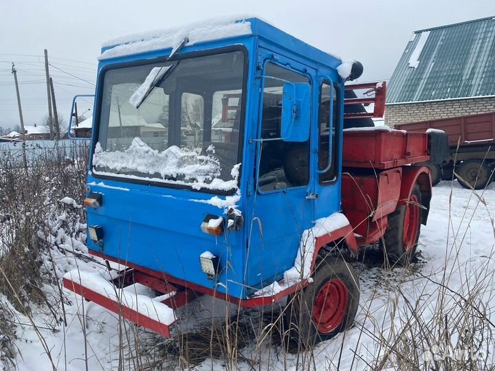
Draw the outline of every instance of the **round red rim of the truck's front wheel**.
M322 286L313 304L313 322L319 333L331 333L342 325L348 301L347 288L338 278Z

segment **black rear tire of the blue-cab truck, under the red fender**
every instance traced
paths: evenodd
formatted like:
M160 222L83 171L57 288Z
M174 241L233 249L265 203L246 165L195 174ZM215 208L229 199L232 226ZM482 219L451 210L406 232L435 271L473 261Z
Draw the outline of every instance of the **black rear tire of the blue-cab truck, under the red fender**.
M388 227L382 240L380 240L380 245L386 252L388 262L391 264L406 266L416 254L419 233L421 232L421 208L417 205L418 203L421 204L421 192L419 186L415 184L408 204L397 205L395 211L388 215ZM404 242L404 223L406 222L408 207L415 207L415 212L419 213L417 220L410 225L412 228L417 228L417 233L409 239L409 248Z

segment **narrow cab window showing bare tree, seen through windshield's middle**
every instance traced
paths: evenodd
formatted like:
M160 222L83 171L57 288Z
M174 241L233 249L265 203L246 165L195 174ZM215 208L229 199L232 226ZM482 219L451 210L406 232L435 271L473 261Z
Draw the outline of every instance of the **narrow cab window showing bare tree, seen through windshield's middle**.
M188 148L203 147L203 97L183 93L181 100L181 145Z

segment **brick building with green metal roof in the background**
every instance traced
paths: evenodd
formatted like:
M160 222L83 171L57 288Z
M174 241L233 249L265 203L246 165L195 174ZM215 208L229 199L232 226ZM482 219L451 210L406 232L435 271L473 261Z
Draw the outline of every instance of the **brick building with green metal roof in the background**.
M390 126L495 111L495 16L419 30L388 83Z

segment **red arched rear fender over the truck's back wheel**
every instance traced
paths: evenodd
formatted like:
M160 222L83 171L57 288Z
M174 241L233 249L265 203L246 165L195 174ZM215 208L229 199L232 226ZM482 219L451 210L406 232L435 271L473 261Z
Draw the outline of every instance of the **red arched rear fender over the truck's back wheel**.
M421 224L426 225L432 196L431 177L428 167L404 166L402 168L402 183L398 205L406 205L412 188L416 183L419 185L419 190L421 191L421 204L426 207L425 209L421 209Z

